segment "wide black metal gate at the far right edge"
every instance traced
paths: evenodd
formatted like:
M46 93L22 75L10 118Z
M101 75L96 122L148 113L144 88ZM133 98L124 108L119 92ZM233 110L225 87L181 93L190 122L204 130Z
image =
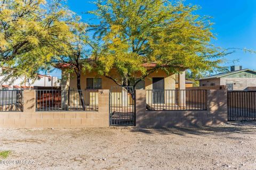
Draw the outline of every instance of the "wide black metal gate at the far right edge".
M228 121L256 120L256 91L228 91Z

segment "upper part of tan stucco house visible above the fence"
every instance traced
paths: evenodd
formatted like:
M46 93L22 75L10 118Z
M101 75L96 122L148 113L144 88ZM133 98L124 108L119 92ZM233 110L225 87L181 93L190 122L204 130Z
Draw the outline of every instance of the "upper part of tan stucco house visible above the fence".
M147 66L150 68L150 66ZM66 73L67 66L59 66L59 69L62 71L62 89L77 89L77 81L75 73ZM113 71L115 70L113 69ZM140 73L137 73L138 78ZM139 82L136 86L137 89L146 89L153 90L163 89L163 90L175 90L175 89L186 89L187 87L192 86L193 82L185 80L185 69L180 69L178 76L176 74L166 74L163 70L159 69ZM64 78L64 79L63 79ZM157 84L157 86L155 86ZM81 87L82 89L111 89L117 84L103 75L99 75L96 71L84 72L81 76Z

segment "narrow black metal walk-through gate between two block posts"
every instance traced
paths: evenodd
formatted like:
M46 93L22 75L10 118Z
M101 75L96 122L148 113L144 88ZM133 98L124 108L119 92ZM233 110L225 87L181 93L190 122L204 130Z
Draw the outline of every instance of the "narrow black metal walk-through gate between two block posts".
M109 120L110 125L135 126L135 91L133 87L111 87Z

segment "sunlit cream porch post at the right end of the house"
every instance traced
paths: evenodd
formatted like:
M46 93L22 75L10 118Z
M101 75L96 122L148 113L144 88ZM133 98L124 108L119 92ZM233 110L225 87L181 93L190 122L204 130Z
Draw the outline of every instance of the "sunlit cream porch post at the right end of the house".
M186 79L185 70L178 74L178 105L180 107L186 107Z

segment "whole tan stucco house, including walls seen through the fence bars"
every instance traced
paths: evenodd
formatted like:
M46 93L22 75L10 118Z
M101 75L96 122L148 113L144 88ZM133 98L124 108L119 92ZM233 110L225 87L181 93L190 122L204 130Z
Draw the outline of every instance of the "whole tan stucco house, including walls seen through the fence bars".
M150 69L149 66L147 68ZM62 85L61 88L66 89L66 90L76 90L77 89L77 78L75 73L66 73L66 67L60 67L62 70ZM115 69L111 71L112 75L117 75L115 74ZM116 76L118 79L118 75ZM135 77L140 77L140 73L138 72ZM191 82L189 82L191 83ZM117 87L118 85L111 79L99 75L97 72L92 71L92 72L85 72L81 76L81 89L82 90L98 90L98 89L109 89L111 91L111 88ZM175 102L175 95L172 95L172 99L166 99L164 92L165 90L185 90L186 89L186 81L185 81L185 70L181 69L180 73L178 74L178 77L176 76L175 73L173 74L167 74L163 70L159 69L145 78L145 80L142 80L137 84L135 89L145 89L145 90L154 90L156 91L154 94L151 91L148 91L147 94L147 100L150 100L151 102L154 103L165 103L165 104L172 104ZM174 94L174 91L172 92ZM111 93L113 95L113 98L115 96L127 96L127 91L125 89L115 91ZM78 94L74 94L73 98L77 98ZM95 98L98 98L97 96L95 97L94 95L98 95L98 93L95 93L94 91L87 93L86 98L90 98L90 100L86 101L86 105L91 105L91 104L98 104L98 101L95 101ZM72 97L71 97L72 98ZM153 99L154 98L154 99ZM154 101L152 101L154 100ZM166 101L167 100L167 101ZM181 99L183 101L183 99ZM126 104L131 102L130 99L125 99L125 97L116 97L114 100L112 100L113 103L118 103L118 104ZM172 103L170 103L172 102ZM74 103L73 105L77 105Z

